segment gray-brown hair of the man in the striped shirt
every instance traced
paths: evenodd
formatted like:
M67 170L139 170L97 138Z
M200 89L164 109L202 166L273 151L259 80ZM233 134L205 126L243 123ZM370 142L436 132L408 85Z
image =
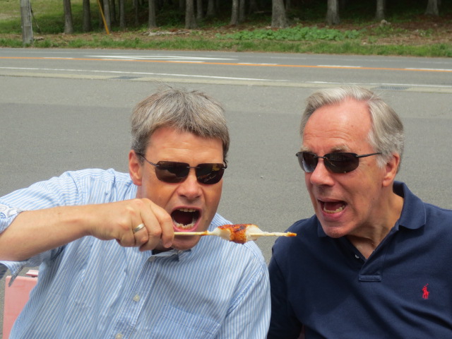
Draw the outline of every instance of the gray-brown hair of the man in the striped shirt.
M145 154L150 136L160 127L172 127L203 138L219 138L226 163L230 136L224 109L205 93L163 88L138 102L131 115L132 150Z

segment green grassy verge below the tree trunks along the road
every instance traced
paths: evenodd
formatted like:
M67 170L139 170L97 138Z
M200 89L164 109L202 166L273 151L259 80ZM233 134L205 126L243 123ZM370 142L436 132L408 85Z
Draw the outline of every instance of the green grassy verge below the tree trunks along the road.
M0 0L0 47L23 47L19 2ZM350 6L341 12L340 24L330 26L325 20L326 0L305 1L306 6L287 12L287 28L270 28L268 11L249 13L242 23L230 25L230 11L223 8L214 18L198 20L198 28L187 30L184 16L169 7L158 12L158 27L149 29L147 9L142 8L138 23L122 30L112 25L109 34L95 1L91 6L93 31L83 32L82 2L71 1L74 32L64 34L61 0L32 0L34 40L32 46L25 47L452 57L452 1L446 0L439 16L424 15L422 4L387 1L391 6L386 20L379 21L374 20L374 1L349 1ZM142 2L147 6L147 1ZM126 4L131 6L131 1ZM126 13L136 11L128 8ZM131 16L126 20L136 21Z

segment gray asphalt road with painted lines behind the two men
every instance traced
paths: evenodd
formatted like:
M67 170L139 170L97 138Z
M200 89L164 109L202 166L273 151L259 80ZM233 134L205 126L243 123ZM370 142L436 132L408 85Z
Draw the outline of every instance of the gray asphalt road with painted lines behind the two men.
M219 213L283 231L313 213L295 157L304 99L344 83L396 109L407 136L398 179L452 208L452 59L308 54L0 49L0 196L69 169L127 171L131 109L169 84L225 106L232 144ZM257 241L267 261L273 242Z

